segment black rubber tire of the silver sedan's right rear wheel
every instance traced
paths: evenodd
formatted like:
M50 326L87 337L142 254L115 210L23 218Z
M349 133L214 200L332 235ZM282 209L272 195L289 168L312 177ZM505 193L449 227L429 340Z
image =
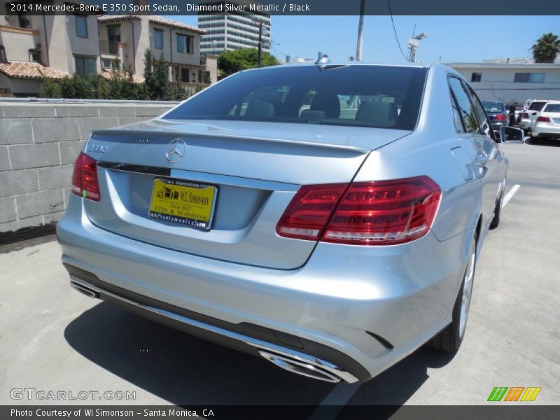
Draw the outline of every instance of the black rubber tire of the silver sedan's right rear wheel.
M474 275L476 272L476 245L477 236L472 238L472 244L470 247L469 255L472 255L474 250L474 266L472 267L472 280L474 281ZM473 248L474 247L474 248ZM467 266L465 267L465 274L470 268L470 258L467 260ZM465 274L463 274L463 282L461 283L461 288L459 288L459 293L455 299L453 305L453 313L451 318L451 323L447 325L443 330L437 333L435 337L430 339L428 346L435 350L445 351L447 353L453 353L459 349L461 343L463 342L463 337L465 337L465 332L463 330L463 336L461 336L461 302L463 301L463 288L465 287ZM470 288L470 298L472 298L472 283ZM468 320L468 314L467 318ZM466 323L466 320L465 320ZM465 325L466 327L466 325Z

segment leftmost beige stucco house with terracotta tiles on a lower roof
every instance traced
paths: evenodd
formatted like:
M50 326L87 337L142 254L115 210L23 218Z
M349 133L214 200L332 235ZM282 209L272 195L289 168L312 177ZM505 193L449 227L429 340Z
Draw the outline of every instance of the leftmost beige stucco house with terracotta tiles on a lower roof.
M0 3L8 10L11 2ZM0 96L36 94L43 75L98 73L98 45L94 14L0 16Z

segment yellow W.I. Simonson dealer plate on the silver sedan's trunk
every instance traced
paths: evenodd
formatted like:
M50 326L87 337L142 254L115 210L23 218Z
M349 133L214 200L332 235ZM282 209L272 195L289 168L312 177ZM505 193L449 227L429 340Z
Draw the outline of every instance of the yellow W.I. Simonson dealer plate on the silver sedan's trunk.
M209 230L216 190L182 179L154 179L150 217Z

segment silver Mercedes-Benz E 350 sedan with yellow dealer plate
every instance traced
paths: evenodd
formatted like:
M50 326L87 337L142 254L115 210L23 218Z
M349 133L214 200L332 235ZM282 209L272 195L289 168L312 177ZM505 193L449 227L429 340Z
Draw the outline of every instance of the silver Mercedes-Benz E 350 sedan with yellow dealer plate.
M92 132L62 262L91 297L298 374L366 381L426 342L461 345L500 221L497 143L447 66L241 71Z

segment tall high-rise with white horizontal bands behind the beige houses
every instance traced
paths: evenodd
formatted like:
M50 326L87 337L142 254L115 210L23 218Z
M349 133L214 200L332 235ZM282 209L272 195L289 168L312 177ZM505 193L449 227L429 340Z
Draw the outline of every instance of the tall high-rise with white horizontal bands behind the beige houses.
M226 7L226 3L230 6ZM200 46L202 54L258 48L259 31L262 50L270 51L272 22L269 13L255 10L255 6L261 6L258 1L201 0L198 4L204 9L198 11L198 27L206 30Z

